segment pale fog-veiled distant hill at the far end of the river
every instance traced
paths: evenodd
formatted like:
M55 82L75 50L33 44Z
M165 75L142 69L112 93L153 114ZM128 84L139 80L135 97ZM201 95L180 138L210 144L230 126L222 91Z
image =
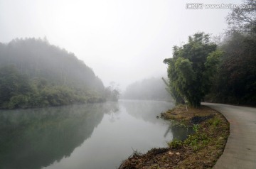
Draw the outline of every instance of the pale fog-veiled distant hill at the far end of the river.
M159 78L149 78L129 84L122 94L122 99L147 99L171 100L171 95L166 91L166 86Z

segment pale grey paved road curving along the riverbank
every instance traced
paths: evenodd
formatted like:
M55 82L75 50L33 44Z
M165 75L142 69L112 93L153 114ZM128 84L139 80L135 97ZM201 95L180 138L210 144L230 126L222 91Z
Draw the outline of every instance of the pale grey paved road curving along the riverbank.
M230 136L223 155L213 168L256 169L256 108L203 103L230 122Z

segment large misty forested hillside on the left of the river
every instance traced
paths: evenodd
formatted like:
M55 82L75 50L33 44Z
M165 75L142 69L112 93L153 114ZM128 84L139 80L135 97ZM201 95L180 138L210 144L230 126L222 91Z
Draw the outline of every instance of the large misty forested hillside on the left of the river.
M100 78L73 53L47 40L0 43L0 107L4 109L102 102Z

